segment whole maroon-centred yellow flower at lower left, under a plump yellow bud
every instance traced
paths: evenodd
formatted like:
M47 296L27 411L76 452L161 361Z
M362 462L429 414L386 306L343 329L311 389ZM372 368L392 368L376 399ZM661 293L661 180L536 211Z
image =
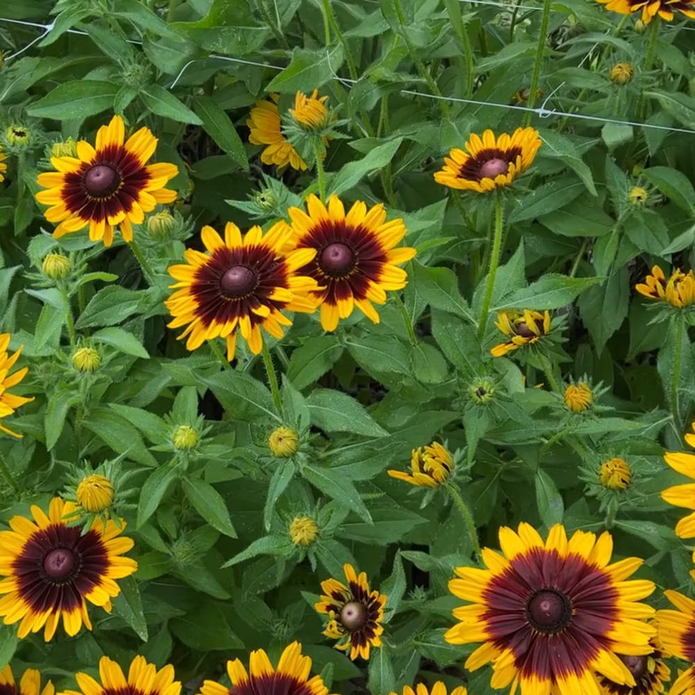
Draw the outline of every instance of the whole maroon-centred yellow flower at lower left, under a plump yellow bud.
M10 519L11 531L0 531L0 615L6 625L19 623L19 637L45 626L44 639L56 633L63 616L65 632L72 637L82 624L92 629L87 601L111 612L111 598L120 593L114 581L131 575L138 563L121 557L133 547L118 537L125 528L97 519L81 534L68 526L76 507L60 498L51 500L48 516L33 505L34 521L25 516ZM91 693L88 695L92 695Z

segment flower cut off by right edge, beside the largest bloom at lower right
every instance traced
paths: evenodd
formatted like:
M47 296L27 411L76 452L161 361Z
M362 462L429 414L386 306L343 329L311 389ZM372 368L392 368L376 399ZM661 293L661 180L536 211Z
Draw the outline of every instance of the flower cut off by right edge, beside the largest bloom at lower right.
M678 610L657 611L659 639L673 656L695 662L695 601L670 589L664 591L664 596ZM691 666L676 678L669 695L689 695L694 691L695 666Z

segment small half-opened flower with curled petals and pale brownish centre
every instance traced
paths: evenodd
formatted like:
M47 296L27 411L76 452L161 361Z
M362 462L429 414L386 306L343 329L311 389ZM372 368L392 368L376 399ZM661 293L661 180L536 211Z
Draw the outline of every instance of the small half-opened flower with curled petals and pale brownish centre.
M358 577L351 564L343 565L343 571L347 587L336 579L321 582L325 596L321 596L314 607L319 613L329 616L323 634L339 640L336 649L350 649L352 660L358 656L368 659L370 646L382 644L379 635L384 632L382 620L386 596L376 589L370 591L366 573L361 572Z

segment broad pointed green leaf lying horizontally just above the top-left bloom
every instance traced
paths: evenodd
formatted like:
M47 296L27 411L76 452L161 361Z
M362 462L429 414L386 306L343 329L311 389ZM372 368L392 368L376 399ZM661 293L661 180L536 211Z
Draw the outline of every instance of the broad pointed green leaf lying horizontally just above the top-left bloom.
M113 99L120 85L97 80L76 80L58 85L45 97L26 107L26 114L34 118L55 120L83 120L113 108Z

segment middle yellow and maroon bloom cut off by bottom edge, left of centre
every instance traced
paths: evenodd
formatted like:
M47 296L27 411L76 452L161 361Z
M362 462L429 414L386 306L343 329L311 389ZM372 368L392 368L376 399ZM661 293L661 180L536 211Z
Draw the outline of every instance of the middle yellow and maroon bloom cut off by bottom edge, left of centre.
M309 678L311 659L302 655L302 645L286 646L277 669L272 667L263 649L252 651L247 671L240 660L227 662L231 688L214 680L206 680L202 695L328 695L321 676ZM86 694L85 694L86 695Z

